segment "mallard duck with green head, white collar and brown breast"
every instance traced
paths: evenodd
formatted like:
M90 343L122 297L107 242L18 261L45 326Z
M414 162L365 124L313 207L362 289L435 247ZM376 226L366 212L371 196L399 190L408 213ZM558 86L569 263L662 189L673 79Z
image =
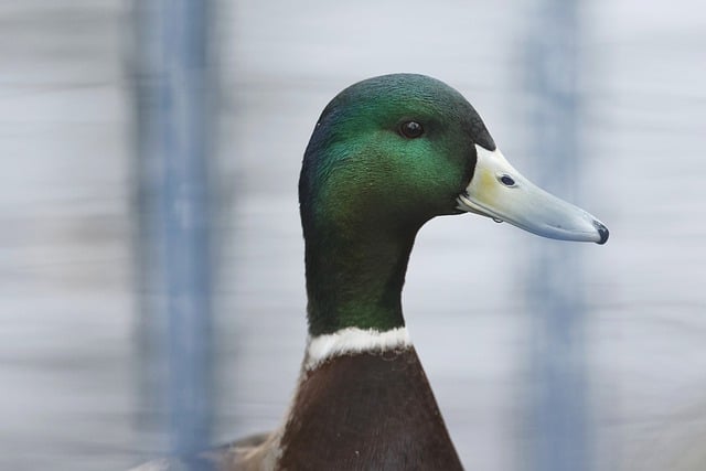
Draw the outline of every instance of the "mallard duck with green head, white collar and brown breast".
M469 212L564 240L605 244L608 229L515 170L461 94L414 74L329 103L299 202L309 339L292 404L272 433L202 458L223 470L462 469L402 311L417 232Z

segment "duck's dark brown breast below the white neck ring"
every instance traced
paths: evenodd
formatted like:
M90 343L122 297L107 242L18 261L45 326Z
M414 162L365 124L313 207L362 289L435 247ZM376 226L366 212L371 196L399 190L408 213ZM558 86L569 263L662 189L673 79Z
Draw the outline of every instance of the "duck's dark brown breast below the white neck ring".
M324 363L302 378L292 410L281 469L462 469L413 347Z

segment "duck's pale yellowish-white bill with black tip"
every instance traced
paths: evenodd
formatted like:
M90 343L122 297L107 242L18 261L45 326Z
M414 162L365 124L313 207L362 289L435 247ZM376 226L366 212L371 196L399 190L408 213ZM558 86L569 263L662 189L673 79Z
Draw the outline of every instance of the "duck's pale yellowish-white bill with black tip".
M475 146L473 178L458 197L458 208L503 221L543 237L560 240L608 240L608 228L586 211L525 179L500 150Z

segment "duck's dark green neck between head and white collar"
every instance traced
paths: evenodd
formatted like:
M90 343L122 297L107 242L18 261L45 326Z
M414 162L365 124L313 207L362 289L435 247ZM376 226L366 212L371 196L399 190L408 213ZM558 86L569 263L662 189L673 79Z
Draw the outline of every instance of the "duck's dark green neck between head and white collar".
M416 231L382 227L307 237L309 334L345 328L387 331L405 325L402 288Z

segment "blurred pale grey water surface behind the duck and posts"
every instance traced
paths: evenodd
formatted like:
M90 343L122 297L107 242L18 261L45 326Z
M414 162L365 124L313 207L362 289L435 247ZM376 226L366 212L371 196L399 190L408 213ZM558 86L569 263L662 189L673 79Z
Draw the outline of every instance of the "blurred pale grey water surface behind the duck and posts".
M528 6L218 3L215 441L276 427L290 398L306 339L298 170L335 93L434 75L527 176L550 171L527 144ZM578 203L611 229L576 246L596 469L704 469L706 8L581 12ZM124 469L164 443L138 387L130 14L118 0L0 2L0 469ZM413 254L407 322L472 469L521 469L542 433L523 422L531 237L447 217Z

